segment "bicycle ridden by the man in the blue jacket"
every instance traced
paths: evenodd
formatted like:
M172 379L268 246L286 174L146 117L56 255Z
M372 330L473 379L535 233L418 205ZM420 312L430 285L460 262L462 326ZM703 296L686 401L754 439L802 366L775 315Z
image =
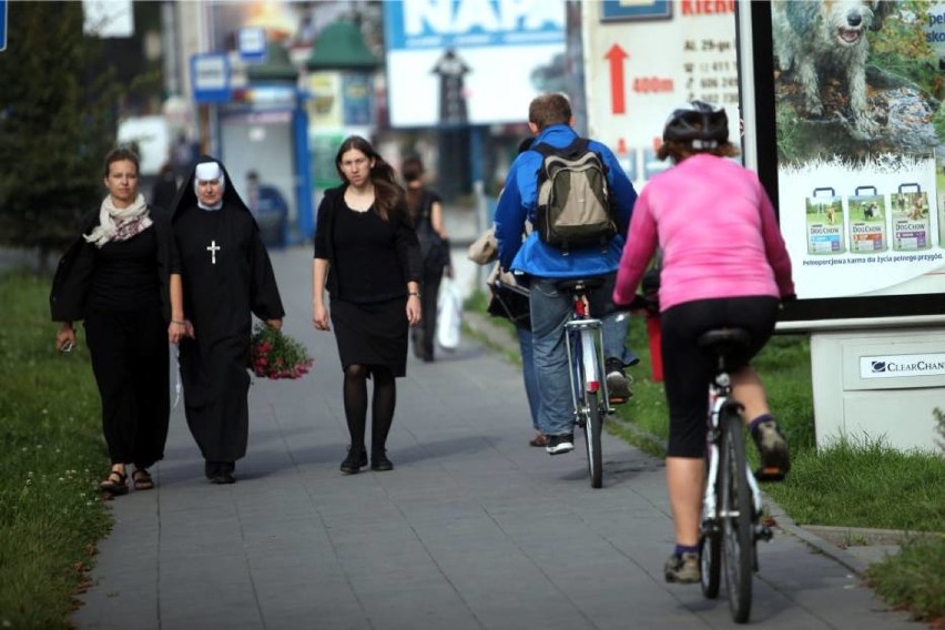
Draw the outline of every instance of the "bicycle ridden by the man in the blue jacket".
M573 303L570 319L565 324L566 347L570 366L575 424L585 434L591 488L603 486L600 435L603 416L613 413L607 390L601 321L591 317L588 302L588 292L602 284L602 277L567 280L557 283L558 289L570 294Z

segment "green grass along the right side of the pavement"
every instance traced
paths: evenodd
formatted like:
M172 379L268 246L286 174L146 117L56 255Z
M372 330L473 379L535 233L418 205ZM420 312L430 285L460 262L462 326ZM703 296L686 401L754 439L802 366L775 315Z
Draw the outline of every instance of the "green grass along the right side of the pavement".
M478 304L474 299L469 306L485 309ZM517 349L509 331L509 347ZM641 358L628 370L634 378L633 398L618 408L617 421L606 427L640 449L663 457L668 410L662 384L652 379L642 318L631 319L628 341ZM764 491L792 520L801 525L945 532L942 453L902 453L881 439L856 436L817 449L809 338L776 335L753 365L764 380L792 453L788 480L766 485ZM938 413L935 419L943 430L945 414ZM754 448L749 449L749 457L756 461ZM868 579L893 606L908 608L917 619L934 620L945 616L943 575L945 537L933 537L911 542L901 555L871 567Z

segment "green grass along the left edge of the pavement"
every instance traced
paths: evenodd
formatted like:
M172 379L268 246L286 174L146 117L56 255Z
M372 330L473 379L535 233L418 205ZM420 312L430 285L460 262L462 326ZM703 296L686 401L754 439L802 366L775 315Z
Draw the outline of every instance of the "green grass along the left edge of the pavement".
M55 352L48 293L48 282L0 278L2 628L69 628L111 522L96 492L108 456L88 353Z

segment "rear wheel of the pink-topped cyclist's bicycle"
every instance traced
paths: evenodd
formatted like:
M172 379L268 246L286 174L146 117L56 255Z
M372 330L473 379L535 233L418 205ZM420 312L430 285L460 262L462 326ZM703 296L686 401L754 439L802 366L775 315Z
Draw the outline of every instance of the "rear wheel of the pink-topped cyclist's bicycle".
M720 520L725 557L725 589L732 619L736 623L744 623L751 614L754 563L754 531L751 522L753 507L745 467L744 427L740 414L733 407L722 411L720 424Z

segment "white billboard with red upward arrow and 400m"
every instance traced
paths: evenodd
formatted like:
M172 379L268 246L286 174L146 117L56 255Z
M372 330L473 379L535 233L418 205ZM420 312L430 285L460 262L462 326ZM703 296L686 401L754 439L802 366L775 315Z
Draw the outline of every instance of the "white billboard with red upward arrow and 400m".
M670 166L656 159L663 123L700 99L739 118L735 2L582 2L589 135L637 187ZM739 126L731 125L738 144Z

